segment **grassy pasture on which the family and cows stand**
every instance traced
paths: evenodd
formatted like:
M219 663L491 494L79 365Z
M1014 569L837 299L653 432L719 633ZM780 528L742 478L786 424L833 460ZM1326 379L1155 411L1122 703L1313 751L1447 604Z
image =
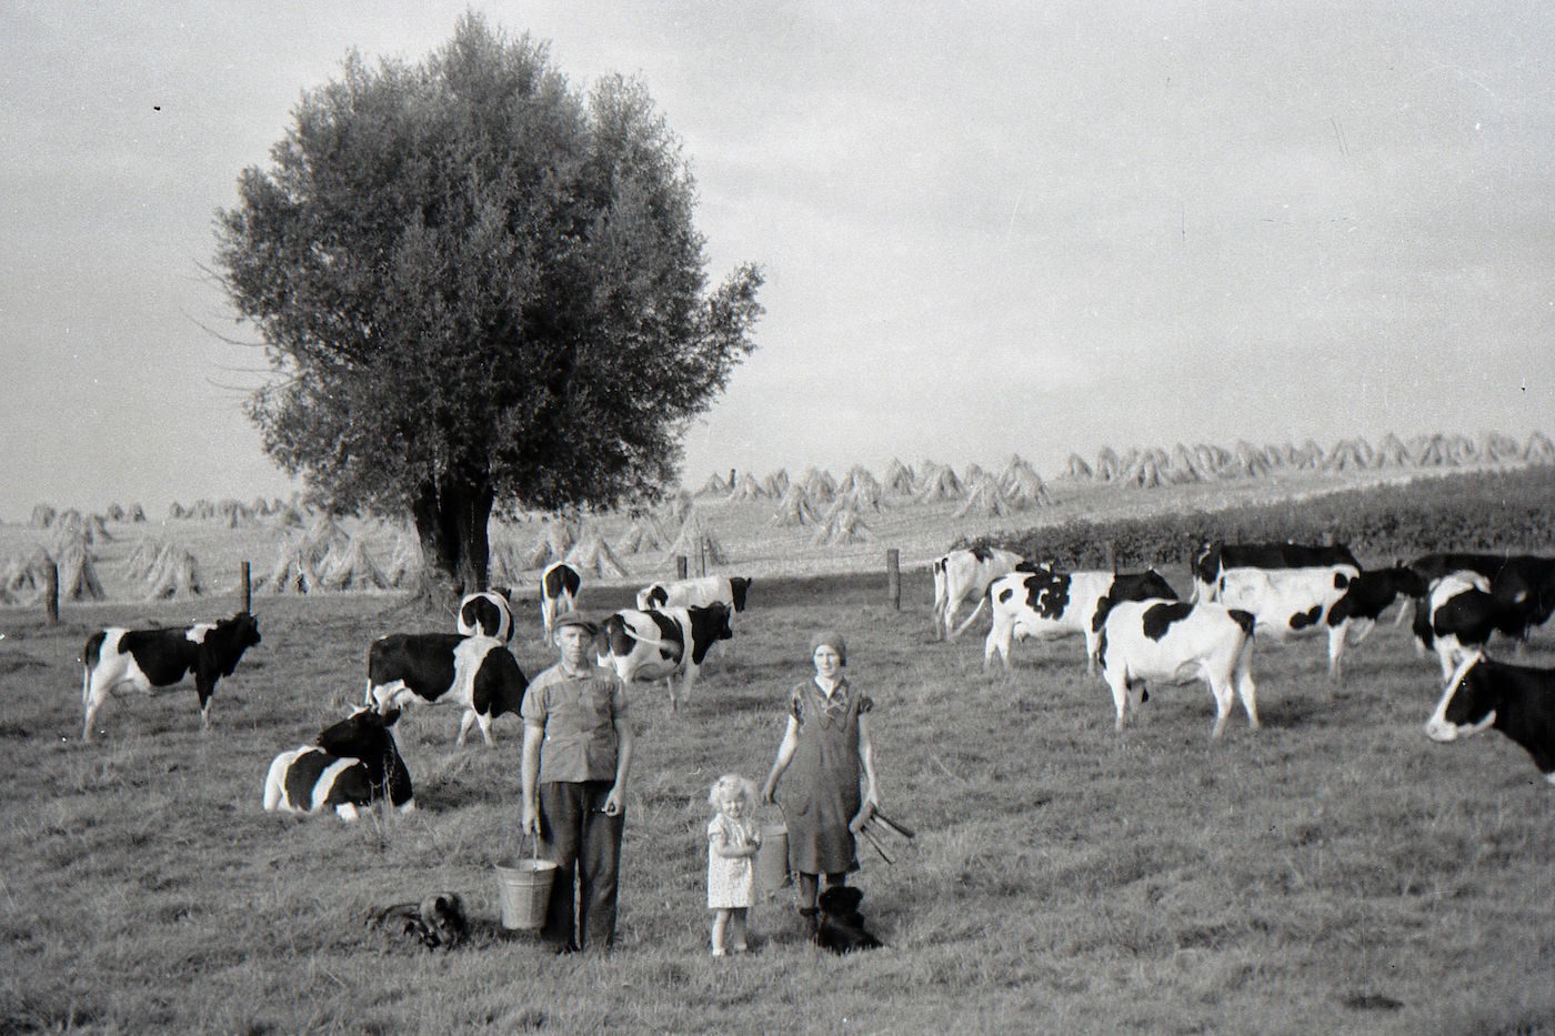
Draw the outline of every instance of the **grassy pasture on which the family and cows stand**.
M619 946L574 958L496 924L513 719L457 753L456 711L401 720L409 817L260 809L269 759L359 697L367 642L425 628L393 599L260 600L264 642L208 734L183 686L110 706L95 747L87 633L191 605L0 613L0 1033L1555 1033L1555 795L1497 734L1426 739L1435 663L1403 630L1379 627L1336 695L1319 642L1261 644L1264 728L1238 712L1210 744L1202 684L1152 689L1116 736L1078 639L984 675L977 627L933 642L928 605L919 572L902 611L883 577L759 582L678 714L641 689ZM891 866L861 852L888 946L823 957L778 898L753 910L757 952L714 961L706 789L770 765L821 625L877 700L883 804L919 831ZM532 614L515 653L549 663ZM477 919L453 954L364 926L440 888Z

